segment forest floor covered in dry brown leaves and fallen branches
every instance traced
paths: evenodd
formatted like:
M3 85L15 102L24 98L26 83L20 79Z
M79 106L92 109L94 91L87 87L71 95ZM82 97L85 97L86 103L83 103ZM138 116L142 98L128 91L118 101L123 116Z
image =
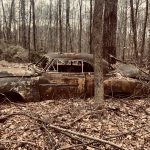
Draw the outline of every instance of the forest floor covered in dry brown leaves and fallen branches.
M0 149L150 149L149 99L107 99L103 111L94 111L93 104L93 99L1 102Z

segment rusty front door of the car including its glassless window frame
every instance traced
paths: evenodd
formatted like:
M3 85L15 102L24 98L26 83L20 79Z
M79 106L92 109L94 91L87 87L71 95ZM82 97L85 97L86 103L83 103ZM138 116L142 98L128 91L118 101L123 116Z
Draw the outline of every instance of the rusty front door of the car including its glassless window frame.
M85 96L83 61L55 59L39 79L41 99Z

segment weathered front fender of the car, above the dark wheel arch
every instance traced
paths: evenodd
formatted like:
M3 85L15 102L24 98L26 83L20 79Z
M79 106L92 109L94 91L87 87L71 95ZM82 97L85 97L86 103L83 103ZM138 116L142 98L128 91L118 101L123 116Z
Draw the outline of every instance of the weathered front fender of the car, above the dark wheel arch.
M0 92L15 92L25 101L39 101L38 77L6 77L0 78Z

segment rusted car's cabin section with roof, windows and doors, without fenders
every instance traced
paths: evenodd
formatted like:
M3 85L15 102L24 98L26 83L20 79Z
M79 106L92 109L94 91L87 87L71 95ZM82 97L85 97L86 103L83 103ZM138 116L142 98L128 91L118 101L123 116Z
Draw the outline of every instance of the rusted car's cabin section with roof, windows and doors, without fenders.
M48 54L36 64L44 69L39 79L41 99L93 96L93 64L90 54ZM111 70L104 60L103 66L104 73Z

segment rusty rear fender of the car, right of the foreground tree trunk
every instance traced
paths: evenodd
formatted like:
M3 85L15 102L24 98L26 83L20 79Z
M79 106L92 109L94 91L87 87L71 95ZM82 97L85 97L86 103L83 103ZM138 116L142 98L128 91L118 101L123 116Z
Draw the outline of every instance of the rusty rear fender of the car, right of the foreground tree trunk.
M141 97L148 95L150 88L139 80L132 78L109 78L104 81L106 95L116 95L119 93Z

